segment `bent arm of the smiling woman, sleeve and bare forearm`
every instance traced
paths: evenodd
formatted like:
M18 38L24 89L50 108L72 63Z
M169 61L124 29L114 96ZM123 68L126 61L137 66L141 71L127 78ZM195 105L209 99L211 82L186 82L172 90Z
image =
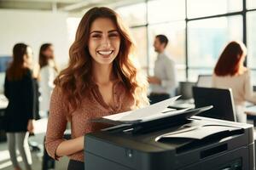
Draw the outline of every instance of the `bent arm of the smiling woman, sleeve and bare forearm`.
M45 148L49 156L55 160L61 156L69 156L84 150L84 136L76 139L63 139L67 127L67 114L61 89L56 87L51 95L45 139Z

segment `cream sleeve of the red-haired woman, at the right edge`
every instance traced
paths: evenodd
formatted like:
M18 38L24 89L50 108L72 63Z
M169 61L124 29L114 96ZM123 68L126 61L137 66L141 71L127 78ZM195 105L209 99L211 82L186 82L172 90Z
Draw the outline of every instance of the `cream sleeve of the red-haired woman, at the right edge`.
M245 99L253 104L256 104L256 94L253 93L253 85L251 83L251 76L250 71L247 71L245 75L245 84L244 84L244 91L245 91Z

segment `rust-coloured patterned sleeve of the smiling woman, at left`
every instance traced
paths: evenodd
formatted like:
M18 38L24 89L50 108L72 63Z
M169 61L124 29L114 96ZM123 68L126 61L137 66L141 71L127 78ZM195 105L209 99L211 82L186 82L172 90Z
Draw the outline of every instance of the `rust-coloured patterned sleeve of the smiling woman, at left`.
M58 160L56 150L63 139L67 127L67 110L63 101L61 89L55 88L49 105L49 119L46 131L45 148L49 156Z

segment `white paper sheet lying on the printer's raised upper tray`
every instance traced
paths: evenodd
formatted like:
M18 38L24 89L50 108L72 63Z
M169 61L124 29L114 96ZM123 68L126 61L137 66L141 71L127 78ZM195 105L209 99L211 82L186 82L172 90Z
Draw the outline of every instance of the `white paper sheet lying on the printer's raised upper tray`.
M169 105L172 105L172 103L178 99L180 96L173 97L171 99L166 99L164 101L161 101L159 103L156 103L154 105L148 105L147 107L144 107L142 109L138 109L136 111L125 111L119 114L111 115L111 116L103 116L105 119L109 119L112 121L121 121L121 122L132 122L132 121L138 121L138 120L150 120L154 119L155 117L164 117L168 116L170 114L177 114L177 112L186 111L185 110L178 110L178 111L171 111L166 112L166 108ZM165 113L162 113L165 111Z

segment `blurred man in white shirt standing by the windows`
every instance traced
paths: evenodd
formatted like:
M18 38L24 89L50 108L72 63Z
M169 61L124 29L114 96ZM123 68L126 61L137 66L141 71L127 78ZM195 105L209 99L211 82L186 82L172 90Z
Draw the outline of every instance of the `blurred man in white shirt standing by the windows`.
M154 38L154 51L158 56L154 62L154 77L148 77L151 87L151 94L148 96L150 104L169 99L175 94L177 87L175 63L165 52L167 43L168 38L165 35Z

